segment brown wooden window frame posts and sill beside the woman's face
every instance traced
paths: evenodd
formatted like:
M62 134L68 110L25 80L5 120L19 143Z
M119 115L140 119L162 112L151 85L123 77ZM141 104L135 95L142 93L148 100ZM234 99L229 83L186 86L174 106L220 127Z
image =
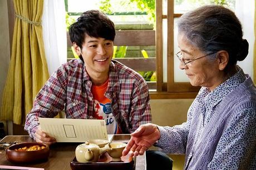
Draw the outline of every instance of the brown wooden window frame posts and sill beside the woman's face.
M174 13L174 0L167 0L167 14L163 14L163 0L156 0L156 94L154 98L195 98L200 87L189 82L174 81L174 18L182 14ZM167 83L163 82L163 19L167 19ZM159 94L159 97L157 96Z

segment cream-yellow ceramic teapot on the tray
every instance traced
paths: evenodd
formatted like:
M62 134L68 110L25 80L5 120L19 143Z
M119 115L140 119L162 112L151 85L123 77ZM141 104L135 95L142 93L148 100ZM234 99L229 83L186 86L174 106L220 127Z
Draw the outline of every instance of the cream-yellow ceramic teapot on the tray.
M97 144L86 141L76 147L76 160L81 163L98 162L101 154L109 150L109 143L100 148Z

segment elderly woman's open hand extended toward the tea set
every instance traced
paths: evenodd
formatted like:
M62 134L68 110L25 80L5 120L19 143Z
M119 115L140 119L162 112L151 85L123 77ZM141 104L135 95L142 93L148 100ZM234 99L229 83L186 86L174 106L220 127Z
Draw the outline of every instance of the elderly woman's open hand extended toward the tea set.
M142 155L160 138L160 132L156 124L147 123L141 125L134 133L131 133L131 139L127 143L123 156L129 154L129 156Z

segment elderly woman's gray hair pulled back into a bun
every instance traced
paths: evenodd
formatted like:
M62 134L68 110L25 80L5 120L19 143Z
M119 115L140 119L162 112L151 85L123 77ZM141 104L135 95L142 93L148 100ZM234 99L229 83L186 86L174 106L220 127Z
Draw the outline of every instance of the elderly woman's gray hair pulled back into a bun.
M180 17L178 29L193 46L206 54L227 51L227 69L247 57L249 44L243 39L239 19L230 9L215 5L197 8Z

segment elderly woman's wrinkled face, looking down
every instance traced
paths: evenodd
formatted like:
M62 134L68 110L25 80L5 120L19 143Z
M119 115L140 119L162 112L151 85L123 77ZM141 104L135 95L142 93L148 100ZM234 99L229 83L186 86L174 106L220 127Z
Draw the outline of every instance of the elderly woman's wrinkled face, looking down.
M178 44L181 52L181 59L190 62L186 65L180 62L180 69L184 69L192 86L208 87L211 90L221 83L218 59L209 59L206 54L201 52L197 47L193 46L184 34L178 34Z

